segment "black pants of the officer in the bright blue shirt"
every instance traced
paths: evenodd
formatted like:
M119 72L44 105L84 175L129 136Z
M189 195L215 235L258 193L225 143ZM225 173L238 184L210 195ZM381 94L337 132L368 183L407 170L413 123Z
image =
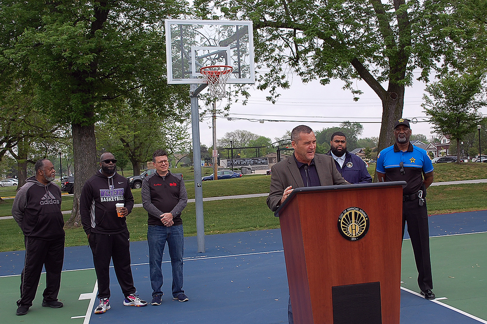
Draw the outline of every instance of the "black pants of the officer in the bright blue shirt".
M428 210L426 203L419 206L419 199L406 200L402 203L402 236L404 225L408 223L414 260L418 270L419 289L433 289L430 261L430 231L428 226Z

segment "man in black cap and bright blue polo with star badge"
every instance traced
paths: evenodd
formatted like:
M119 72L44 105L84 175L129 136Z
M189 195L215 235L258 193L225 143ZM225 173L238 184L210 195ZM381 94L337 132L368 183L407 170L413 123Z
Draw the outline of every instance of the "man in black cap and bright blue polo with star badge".
M379 181L406 181L402 203L402 234L408 223L421 295L434 299L433 278L430 261L430 235L426 188L433 182L433 165L427 152L415 147L409 141L411 136L409 120L399 119L394 123L396 142L382 150L377 156L377 177Z

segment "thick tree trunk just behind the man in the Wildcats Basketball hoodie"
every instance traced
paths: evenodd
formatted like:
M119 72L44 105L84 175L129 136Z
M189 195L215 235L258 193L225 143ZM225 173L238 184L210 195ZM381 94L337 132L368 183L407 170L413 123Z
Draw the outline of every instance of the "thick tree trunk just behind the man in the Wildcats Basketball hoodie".
M71 217L66 222L66 226L81 226L81 217L79 214L79 196L81 189L86 180L88 180L98 170L96 163L96 145L94 136L94 124L81 125L72 124L71 131L73 134L73 161L75 172L74 199Z

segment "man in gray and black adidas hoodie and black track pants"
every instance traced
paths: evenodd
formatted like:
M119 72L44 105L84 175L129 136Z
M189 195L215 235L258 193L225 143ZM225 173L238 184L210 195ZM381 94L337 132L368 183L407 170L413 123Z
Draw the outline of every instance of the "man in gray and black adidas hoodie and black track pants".
M57 300L64 261L64 220L61 190L52 183L56 170L51 161L40 159L36 175L28 178L17 192L12 216L24 233L25 263L20 276L17 315L25 315L36 297L42 267L46 268L46 288L42 306L60 308Z

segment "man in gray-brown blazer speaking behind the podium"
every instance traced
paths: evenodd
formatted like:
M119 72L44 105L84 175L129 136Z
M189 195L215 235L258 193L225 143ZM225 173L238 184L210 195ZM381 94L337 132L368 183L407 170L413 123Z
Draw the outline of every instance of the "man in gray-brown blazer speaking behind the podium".
M271 185L267 206L276 211L287 196L299 187L348 185L335 161L329 155L316 154L316 137L305 125L297 126L291 132L294 154L272 166ZM293 324L291 299L288 309L289 323Z

